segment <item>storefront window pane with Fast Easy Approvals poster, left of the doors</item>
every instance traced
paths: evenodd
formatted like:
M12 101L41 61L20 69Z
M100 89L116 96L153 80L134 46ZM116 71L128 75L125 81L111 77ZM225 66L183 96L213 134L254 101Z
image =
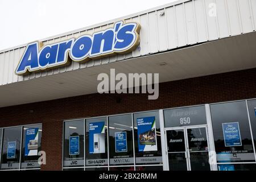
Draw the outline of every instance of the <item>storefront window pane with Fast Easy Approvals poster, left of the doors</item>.
M136 164L162 164L159 111L135 113L134 146Z

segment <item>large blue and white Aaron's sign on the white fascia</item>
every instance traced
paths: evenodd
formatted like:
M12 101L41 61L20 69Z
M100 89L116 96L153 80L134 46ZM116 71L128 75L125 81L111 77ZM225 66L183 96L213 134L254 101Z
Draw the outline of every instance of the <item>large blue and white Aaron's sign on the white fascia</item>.
M84 63L90 59L99 59L115 53L133 51L139 44L139 23L116 22L113 28L82 35L59 43L43 46L41 42L27 45L16 68L16 75L56 68L73 61ZM70 58L70 59L69 59Z

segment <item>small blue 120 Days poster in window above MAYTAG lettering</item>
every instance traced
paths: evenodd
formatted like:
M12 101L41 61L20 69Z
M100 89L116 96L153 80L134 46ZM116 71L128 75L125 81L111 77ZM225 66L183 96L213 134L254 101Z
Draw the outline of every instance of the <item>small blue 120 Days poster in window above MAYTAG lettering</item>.
M115 133L115 152L127 152L126 131Z

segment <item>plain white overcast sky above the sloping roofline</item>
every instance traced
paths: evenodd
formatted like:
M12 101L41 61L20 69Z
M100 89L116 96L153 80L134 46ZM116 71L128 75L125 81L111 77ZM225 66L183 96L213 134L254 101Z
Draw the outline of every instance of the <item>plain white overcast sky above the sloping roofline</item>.
M177 0L0 0L0 50Z

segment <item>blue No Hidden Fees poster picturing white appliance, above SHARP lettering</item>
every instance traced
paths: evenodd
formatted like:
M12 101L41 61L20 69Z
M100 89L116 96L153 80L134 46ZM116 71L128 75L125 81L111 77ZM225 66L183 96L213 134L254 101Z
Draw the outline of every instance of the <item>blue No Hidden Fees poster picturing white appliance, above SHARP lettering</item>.
M105 122L89 123L89 153L105 153Z

